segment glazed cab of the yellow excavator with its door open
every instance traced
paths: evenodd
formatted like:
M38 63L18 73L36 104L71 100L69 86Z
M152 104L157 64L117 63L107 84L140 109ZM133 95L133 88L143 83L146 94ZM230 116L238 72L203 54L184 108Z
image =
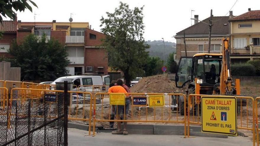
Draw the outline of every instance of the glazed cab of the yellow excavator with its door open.
M194 86L195 78L202 87L202 94L212 94L215 84L220 83L222 54L198 53L182 57L175 76L176 87ZM203 86L206 89L203 91Z

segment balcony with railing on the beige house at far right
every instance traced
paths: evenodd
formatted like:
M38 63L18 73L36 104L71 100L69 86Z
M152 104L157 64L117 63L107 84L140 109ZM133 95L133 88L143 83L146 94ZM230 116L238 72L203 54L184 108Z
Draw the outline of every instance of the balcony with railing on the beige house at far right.
M253 55L260 54L260 46L251 46L250 48L231 48L231 55Z

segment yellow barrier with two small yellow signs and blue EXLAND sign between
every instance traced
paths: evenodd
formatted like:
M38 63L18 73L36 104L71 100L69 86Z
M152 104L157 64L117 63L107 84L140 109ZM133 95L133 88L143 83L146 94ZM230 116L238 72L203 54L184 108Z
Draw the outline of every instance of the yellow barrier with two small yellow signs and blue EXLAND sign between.
M101 105L99 104L99 106L101 106L101 111L97 111L97 104L96 104L96 98L99 98L100 95L103 95L101 98ZM106 95L106 96L105 96ZM146 96L152 96L152 95L165 95L165 107L164 106L160 106L160 107L149 107L149 106L140 106L140 107L135 107L133 105L133 100L131 101L131 104L129 105L129 109L131 109L131 113L130 113L130 119L126 119L126 114L124 113L123 116L123 120L111 120L110 119L110 110L111 110L111 105L109 105L109 107L104 108L105 104L104 104L104 99L109 100L109 93L96 93L94 98L93 98L93 135L95 135L95 126L96 126L96 122L148 122L148 123L181 123L184 125L184 135L186 136L186 100L184 100L184 116L181 117L180 115L178 116L178 108L176 108L176 110L174 110L174 108L171 108L171 101L172 98L171 96L176 96L177 98L177 104L178 104L178 98L180 98L180 96L183 96L184 99L186 99L186 95L185 94L180 94L180 93L126 93L125 95L129 95L129 96L142 96L142 97L146 97ZM148 100L148 98L147 98ZM107 102L107 101L106 101ZM148 104L148 103L147 103ZM134 108L139 108L139 111L137 111L137 116L136 112L134 112ZM141 116L140 113L140 108L145 108L144 113L145 115ZM168 109L167 109L168 108ZM100 109L100 107L99 107ZM106 112L109 113L104 113L104 110L106 109ZM156 117L156 110L159 109L160 110L160 116L157 118ZM164 110L166 109L166 110ZM176 111L176 113L173 113L173 110ZM153 110L153 113L149 113L150 110ZM165 111L165 112L163 112ZM116 113L118 113L118 109L116 109ZM106 116L108 114L108 116ZM168 114L167 116L165 116L166 114ZM173 120L173 116L174 116L174 120ZM106 118L105 118L106 117ZM142 118L142 119L141 119Z

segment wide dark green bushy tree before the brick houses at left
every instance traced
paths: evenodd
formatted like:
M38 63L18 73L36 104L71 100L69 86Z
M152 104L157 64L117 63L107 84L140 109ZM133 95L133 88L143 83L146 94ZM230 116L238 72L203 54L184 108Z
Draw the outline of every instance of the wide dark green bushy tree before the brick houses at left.
M21 67L21 79L27 81L53 81L67 73L70 63L66 48L58 40L46 41L46 36L30 34L21 44L14 40L9 53L11 65Z

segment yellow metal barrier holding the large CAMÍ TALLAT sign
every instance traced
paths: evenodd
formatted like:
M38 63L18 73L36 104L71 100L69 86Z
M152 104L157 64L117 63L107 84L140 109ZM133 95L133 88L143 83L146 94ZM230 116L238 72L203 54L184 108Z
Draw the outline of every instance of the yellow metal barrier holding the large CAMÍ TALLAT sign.
M201 94L190 94L188 96L188 122L187 122L187 137L189 137L189 128L190 124L199 124L201 125L201 96L205 97L236 97L237 98L237 128L238 129L245 129L250 130L253 133L253 146L255 145L255 101L254 98L249 96L224 96L224 95L201 95ZM259 97L260 98L260 97ZM246 106L242 105L242 99L246 100ZM246 108L246 112L242 112L242 109ZM194 110L199 109L199 110ZM249 115L252 113L252 115ZM257 114L256 114L257 115ZM249 123L249 122L252 122ZM250 125L251 124L251 125Z

